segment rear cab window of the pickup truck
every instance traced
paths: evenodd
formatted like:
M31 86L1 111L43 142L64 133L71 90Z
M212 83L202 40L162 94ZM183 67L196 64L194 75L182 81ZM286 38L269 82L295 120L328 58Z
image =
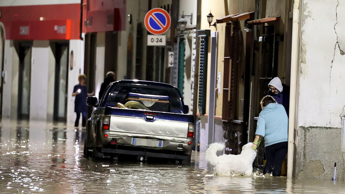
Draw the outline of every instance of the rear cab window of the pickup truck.
M180 96L176 89L154 86L134 84L116 85L111 90L106 103L109 106L121 108L117 103L126 104L129 101L136 101L144 105L140 105L138 109L161 112L183 112Z

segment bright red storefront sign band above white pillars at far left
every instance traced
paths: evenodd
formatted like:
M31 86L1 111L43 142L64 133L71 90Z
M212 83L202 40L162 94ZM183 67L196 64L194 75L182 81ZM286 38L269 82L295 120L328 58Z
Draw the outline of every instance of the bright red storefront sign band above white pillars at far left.
M6 39L79 39L80 4L0 7Z

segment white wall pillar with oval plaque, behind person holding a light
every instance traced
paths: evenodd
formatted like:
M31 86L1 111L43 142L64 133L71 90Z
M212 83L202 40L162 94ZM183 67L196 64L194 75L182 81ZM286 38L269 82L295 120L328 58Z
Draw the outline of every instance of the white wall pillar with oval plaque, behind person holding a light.
M67 125L74 125L76 113L74 112L74 99L72 97L73 88L77 85L79 71L84 72L84 41L70 40L69 55L73 51L73 69L68 68L68 89L67 89ZM71 57L69 56L69 60ZM69 61L70 64L70 61Z

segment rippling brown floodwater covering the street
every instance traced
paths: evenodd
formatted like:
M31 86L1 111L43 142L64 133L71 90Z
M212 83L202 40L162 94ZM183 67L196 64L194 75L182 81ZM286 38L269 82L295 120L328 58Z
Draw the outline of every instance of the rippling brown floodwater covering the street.
M286 177L216 176L204 153L190 166L92 162L85 131L1 124L0 193L345 193L345 183Z

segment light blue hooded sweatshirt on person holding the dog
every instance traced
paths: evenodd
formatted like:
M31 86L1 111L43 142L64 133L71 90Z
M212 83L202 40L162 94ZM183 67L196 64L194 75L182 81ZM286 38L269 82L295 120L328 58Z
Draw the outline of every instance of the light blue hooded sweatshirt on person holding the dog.
M259 114L256 135L265 137L265 147L287 141L288 117L284 106L269 103Z

